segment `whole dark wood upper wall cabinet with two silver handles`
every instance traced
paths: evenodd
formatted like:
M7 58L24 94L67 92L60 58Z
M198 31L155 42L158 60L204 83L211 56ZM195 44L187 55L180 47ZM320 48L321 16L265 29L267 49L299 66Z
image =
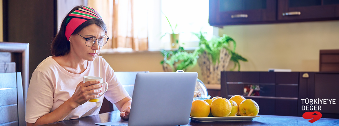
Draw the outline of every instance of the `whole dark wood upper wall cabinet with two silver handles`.
M339 20L339 0L209 0L212 26Z

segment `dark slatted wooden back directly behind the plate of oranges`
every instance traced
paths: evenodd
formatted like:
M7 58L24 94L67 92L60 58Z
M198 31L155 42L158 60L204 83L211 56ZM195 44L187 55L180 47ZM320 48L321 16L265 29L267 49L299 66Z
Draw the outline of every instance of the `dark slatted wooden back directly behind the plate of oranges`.
M260 115L297 116L298 72L221 72L221 97L256 101ZM249 89L258 87L245 94ZM286 111L286 109L288 111Z

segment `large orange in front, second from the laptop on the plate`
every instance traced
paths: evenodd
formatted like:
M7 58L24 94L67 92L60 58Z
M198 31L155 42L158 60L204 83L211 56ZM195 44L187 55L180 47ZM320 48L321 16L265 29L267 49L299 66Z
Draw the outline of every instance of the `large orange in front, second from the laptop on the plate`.
M211 112L214 117L226 117L231 114L231 102L225 98L216 98L211 103Z

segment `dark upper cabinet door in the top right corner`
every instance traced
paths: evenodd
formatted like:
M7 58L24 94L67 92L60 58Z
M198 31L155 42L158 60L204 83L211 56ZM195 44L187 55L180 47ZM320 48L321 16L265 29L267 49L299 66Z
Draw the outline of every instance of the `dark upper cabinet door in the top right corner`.
M339 0L278 0L278 20L328 20L339 17Z

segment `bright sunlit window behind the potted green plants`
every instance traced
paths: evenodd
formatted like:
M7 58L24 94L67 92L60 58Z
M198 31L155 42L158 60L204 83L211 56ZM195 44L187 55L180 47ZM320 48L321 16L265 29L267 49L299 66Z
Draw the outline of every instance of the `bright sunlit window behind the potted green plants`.
M148 44L149 49L169 49L169 34L172 33L165 18L172 27L177 24L175 33L179 33L180 46L198 47L199 39L192 32L206 32L210 40L213 26L208 24L208 0L148 0ZM159 5L159 6L157 6Z

